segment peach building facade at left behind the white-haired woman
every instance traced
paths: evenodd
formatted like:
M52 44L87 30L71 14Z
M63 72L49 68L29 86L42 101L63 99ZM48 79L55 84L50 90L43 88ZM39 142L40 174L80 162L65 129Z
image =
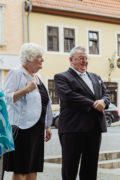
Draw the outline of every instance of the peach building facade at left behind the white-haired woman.
M0 88L8 71L20 65L23 19L22 0L0 0Z

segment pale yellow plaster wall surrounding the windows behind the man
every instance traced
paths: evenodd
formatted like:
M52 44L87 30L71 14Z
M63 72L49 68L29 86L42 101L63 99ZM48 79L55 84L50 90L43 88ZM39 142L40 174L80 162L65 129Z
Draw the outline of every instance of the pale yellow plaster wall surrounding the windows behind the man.
M116 51L116 33L120 31L120 25L40 13L31 13L30 41L41 44L44 48L46 48L45 39L47 39L45 30L46 24L53 24L53 26L75 26L77 30L77 45L84 46L85 48L87 48L88 46L87 30L93 29L100 31L101 55L88 56L88 71L97 73L103 78L108 77L108 58L111 58L113 53ZM54 74L63 72L69 67L69 53L66 54L47 52L44 55L44 59L45 61L43 64L41 75L43 76L45 81L47 81L47 78L53 78ZM112 77L118 78L119 74L120 70L116 68L116 70L112 73Z

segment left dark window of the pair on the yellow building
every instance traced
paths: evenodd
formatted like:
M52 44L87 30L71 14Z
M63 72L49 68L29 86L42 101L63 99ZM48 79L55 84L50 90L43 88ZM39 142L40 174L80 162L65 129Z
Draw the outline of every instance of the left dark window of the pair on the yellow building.
M47 50L59 51L59 33L57 27L47 27Z

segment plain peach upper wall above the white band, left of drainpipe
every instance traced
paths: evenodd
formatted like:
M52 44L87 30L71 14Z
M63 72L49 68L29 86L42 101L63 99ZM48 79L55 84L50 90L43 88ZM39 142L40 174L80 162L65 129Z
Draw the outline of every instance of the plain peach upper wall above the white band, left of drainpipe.
M18 54L23 43L22 0L0 0L4 10L4 47L0 54Z

